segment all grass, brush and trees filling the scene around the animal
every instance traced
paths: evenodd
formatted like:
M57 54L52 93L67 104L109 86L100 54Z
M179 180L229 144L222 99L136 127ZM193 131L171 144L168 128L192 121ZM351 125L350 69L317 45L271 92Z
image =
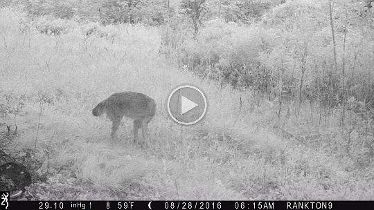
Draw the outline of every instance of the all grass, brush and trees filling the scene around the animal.
M3 1L1 148L34 199L373 200L371 2ZM182 128L186 83L209 108ZM157 101L145 149L91 116L123 90Z

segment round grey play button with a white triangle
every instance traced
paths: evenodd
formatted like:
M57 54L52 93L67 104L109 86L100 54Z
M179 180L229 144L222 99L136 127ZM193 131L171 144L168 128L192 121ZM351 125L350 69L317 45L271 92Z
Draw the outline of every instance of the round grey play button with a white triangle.
M202 120L206 113L206 97L195 86L184 85L172 90L168 98L168 112L179 124L191 125Z

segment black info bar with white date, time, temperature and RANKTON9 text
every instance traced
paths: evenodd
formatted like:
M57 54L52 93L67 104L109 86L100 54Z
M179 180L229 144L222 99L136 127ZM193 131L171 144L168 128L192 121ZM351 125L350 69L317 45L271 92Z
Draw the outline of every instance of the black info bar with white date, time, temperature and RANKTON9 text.
M275 201L275 200L50 200L50 201L15 201L1 202L1 209L49 209L49 210L80 210L80 209L371 209L373 201Z

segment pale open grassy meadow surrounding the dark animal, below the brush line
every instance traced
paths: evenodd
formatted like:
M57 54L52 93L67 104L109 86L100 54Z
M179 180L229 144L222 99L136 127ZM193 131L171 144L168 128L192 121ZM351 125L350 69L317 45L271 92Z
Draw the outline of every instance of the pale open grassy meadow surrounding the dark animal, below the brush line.
M41 34L21 12L0 10L0 127L3 150L33 171L35 200L373 200L372 168L323 149L340 144L334 122L321 126L321 147L274 128L274 106L208 79L159 55L160 28L100 26L108 36ZM208 99L201 122L180 126L168 116L173 88L193 84ZM118 141L112 123L92 108L112 93L145 93L157 103L150 142L132 142L124 118ZM290 132L318 124L303 105ZM17 134L7 135L6 126ZM314 128L314 127L313 127ZM292 130L293 129L293 130ZM312 128L310 128L312 130ZM331 135L328 135L331 133ZM328 143L326 143L328 142ZM317 143L316 143L317 144Z

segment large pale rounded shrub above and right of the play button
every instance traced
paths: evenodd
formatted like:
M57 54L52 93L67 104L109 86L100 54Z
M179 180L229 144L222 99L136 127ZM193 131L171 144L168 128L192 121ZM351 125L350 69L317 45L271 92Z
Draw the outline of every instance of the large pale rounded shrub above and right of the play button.
M246 28L215 19L200 30L196 39L185 42L181 62L198 75L217 79L221 84L259 88L265 81L258 79L268 77L257 57L269 48L270 40L260 26Z

